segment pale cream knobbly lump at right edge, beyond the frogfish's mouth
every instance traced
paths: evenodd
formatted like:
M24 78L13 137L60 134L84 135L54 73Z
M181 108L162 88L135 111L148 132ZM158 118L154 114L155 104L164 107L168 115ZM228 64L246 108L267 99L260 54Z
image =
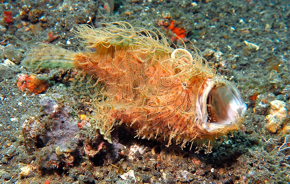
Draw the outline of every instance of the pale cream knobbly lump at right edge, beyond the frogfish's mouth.
M273 100L270 102L271 110L270 114L266 116L267 119L267 130L271 133L276 133L280 130L283 125L286 125L288 120L288 110L286 108L285 102L281 100ZM283 133L289 133L289 125L284 126Z

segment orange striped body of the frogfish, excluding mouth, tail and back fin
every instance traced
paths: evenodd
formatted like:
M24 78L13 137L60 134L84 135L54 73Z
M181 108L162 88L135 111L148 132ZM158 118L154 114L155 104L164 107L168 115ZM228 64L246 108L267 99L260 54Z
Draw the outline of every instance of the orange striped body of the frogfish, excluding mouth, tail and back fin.
M103 132L118 121L140 136L166 138L168 145L172 138L183 144L204 138L195 126L195 102L205 80L214 76L213 68L199 63L199 76L172 77L181 69L174 69L171 52L156 59L129 46L107 47L99 54L79 53L75 59L77 69L98 78L107 89L107 98L97 105L101 110L95 115L105 119L100 125Z

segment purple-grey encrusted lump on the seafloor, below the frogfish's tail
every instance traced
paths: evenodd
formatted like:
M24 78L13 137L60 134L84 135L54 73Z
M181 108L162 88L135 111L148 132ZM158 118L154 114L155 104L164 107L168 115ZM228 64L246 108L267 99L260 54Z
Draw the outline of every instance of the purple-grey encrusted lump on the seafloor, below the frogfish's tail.
M54 93L40 99L42 112L24 121L23 130L28 147L37 149L39 168L69 167L79 154L77 118L64 96Z

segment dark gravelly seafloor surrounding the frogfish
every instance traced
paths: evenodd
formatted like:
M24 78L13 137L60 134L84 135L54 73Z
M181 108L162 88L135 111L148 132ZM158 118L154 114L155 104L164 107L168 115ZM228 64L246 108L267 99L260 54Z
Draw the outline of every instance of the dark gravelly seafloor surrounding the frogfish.
M290 141L288 1L116 0L114 11L110 11L112 1L0 2L0 183L289 183L290 149L282 145L285 139ZM175 31L184 29L185 39L240 89L248 105L241 130L209 154L166 148L154 140L134 138L124 128L112 132L112 145L94 142L96 133L89 129L81 133L87 137L76 140L72 135L77 129L69 123L64 137L58 137L63 136L61 129L48 131L41 126L34 127L37 139L24 136L26 119L32 122L31 116L38 117L38 125L50 126L53 117L41 111L41 95L17 87L18 75L34 72L48 81L50 88L42 94L63 102L62 116L69 122L78 121L71 112L91 113L90 99L78 98L69 88L71 70L27 70L21 66L26 50L36 42L50 42L78 51L82 47L71 34L73 24L97 27L98 22L111 21L156 27L177 45L181 42L169 25L172 22ZM245 40L256 45L247 46ZM277 123L271 127L276 133L266 128L273 100L285 102L279 112L285 118L272 120ZM90 148L84 146L88 144ZM129 170L135 178L122 179Z

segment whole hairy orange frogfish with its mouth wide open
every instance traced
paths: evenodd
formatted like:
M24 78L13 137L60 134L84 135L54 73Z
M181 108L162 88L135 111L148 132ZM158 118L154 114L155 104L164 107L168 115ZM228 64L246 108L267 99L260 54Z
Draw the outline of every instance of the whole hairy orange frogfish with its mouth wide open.
M95 97L90 121L108 142L113 126L127 124L137 136L211 152L216 139L239 128L247 108L240 92L197 48L171 48L159 31L123 21L103 25L74 26L84 52L37 44L23 64L78 70L72 87Z

